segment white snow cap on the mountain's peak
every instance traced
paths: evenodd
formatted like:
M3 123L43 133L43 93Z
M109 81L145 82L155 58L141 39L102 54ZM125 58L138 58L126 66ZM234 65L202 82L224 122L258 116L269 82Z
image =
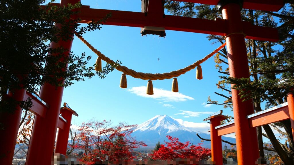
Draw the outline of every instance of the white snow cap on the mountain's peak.
M156 130L159 134L163 130L167 131L166 133L175 132L178 130L192 132L190 129L182 126L178 121L176 121L172 117L169 117L168 115L156 115L148 121L139 124L134 132L146 130Z

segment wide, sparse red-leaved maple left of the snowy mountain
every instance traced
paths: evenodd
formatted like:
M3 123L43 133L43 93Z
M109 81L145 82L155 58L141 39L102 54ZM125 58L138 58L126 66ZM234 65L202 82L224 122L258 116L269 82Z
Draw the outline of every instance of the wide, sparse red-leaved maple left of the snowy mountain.
M126 125L119 123L112 126L111 121L102 122L92 119L87 123L82 123L78 134L79 143L76 149L85 150L82 161L85 164L93 163L92 160L100 157L108 161L129 161L135 158L133 149L140 146L147 146L144 142L138 142L131 137L136 125Z

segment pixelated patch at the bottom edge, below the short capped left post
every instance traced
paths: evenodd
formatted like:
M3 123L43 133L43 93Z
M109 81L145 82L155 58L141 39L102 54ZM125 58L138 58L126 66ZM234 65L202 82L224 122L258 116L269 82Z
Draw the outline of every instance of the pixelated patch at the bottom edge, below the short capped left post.
M79 159L74 158L74 156L67 156L59 153L54 153L51 158L52 165L82 165L83 163Z

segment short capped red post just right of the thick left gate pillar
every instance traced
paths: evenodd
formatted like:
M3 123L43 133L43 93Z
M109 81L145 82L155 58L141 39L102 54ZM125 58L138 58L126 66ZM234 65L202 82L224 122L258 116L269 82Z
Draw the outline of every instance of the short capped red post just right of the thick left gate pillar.
M66 103L64 103L66 104ZM56 147L55 153L60 153L66 155L66 148L69 141L69 131L71 127L71 118L72 115L78 116L78 114L70 108L62 107L60 110L61 116L66 119L66 124L64 129L59 129L57 140L56 140Z

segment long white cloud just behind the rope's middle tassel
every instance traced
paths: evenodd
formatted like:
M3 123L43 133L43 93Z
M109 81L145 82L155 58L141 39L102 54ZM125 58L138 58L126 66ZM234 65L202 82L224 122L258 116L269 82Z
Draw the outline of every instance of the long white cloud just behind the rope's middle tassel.
M128 91L141 97L153 98L156 100L161 100L163 102L181 102L187 100L194 100L193 97L183 95L182 93L172 92L170 90L164 90L159 88L153 88L154 95L147 95L146 88L146 86L131 87L131 89L128 89Z

